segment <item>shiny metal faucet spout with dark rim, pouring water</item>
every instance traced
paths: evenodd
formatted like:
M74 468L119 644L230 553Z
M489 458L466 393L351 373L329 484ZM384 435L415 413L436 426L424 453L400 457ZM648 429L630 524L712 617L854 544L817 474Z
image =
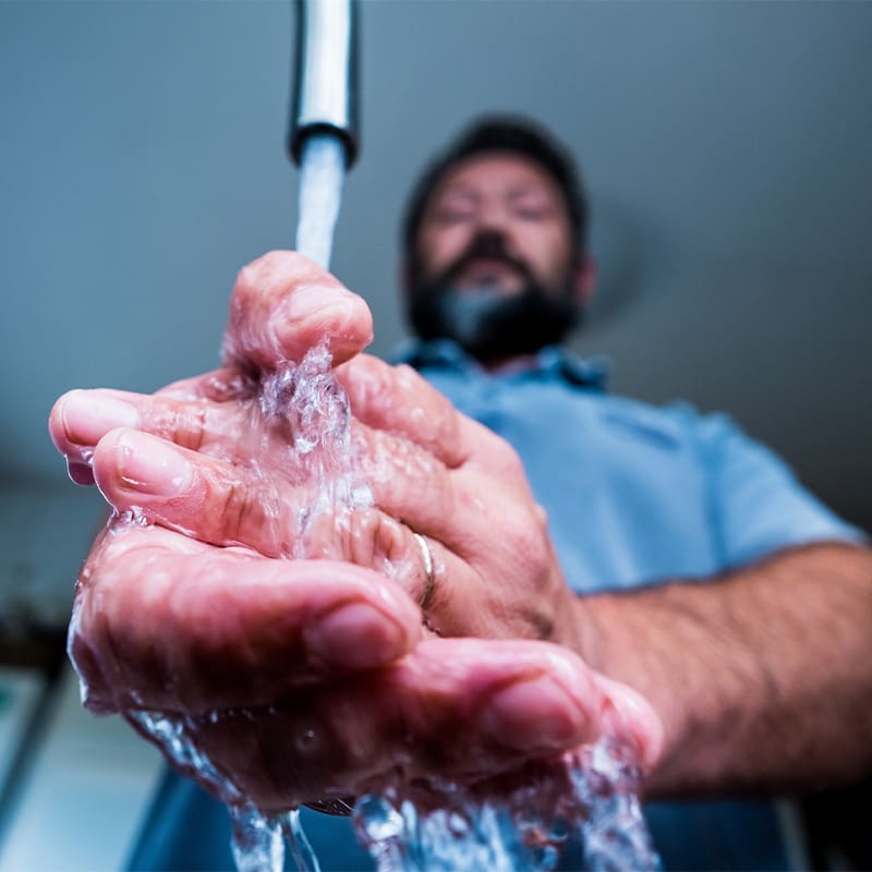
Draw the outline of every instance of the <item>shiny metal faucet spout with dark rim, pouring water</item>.
M288 152L300 166L305 141L341 141L346 169L358 157L355 0L295 0L296 53Z

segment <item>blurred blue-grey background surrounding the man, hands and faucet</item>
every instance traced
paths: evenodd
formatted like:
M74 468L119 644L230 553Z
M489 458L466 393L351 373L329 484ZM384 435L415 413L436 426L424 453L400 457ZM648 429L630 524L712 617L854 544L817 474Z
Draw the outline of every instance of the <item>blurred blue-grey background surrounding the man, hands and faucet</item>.
M872 529L872 4L361 12L334 271L375 353L404 335L398 218L423 162L477 112L531 114L592 197L602 282L574 347L614 360L617 392L729 411ZM216 365L237 271L293 240L292 29L279 0L0 3L0 869L116 868L150 790L150 749L81 715L64 665L101 507L46 417L72 387Z

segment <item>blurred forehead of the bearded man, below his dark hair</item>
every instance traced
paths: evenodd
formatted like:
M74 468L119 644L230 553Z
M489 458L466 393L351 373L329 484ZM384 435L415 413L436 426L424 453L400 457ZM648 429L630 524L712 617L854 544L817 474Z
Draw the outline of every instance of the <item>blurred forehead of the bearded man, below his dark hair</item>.
M535 160L512 152L485 152L456 164L439 180L431 202L446 194L504 194L537 192L562 202L550 173Z

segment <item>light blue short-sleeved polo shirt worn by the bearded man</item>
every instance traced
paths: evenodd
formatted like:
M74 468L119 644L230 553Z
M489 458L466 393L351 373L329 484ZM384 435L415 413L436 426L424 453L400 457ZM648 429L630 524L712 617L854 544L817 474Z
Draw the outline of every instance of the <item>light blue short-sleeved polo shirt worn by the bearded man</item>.
M514 447L579 593L691 582L779 548L863 538L728 417L613 397L600 362L547 348L523 370L489 374L445 340L410 343L397 362ZM645 813L667 870L789 869L772 802L658 802ZM303 816L325 872L374 868L348 819ZM229 838L223 807L170 774L129 868L230 870ZM560 868L579 862L570 851Z

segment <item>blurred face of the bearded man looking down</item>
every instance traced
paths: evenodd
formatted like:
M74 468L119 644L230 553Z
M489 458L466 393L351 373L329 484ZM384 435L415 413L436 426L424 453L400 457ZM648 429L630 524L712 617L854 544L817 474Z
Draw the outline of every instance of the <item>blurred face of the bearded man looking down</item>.
M424 209L409 311L424 338L484 361L557 342L578 314L578 257L556 182L534 161L486 153L449 170Z

